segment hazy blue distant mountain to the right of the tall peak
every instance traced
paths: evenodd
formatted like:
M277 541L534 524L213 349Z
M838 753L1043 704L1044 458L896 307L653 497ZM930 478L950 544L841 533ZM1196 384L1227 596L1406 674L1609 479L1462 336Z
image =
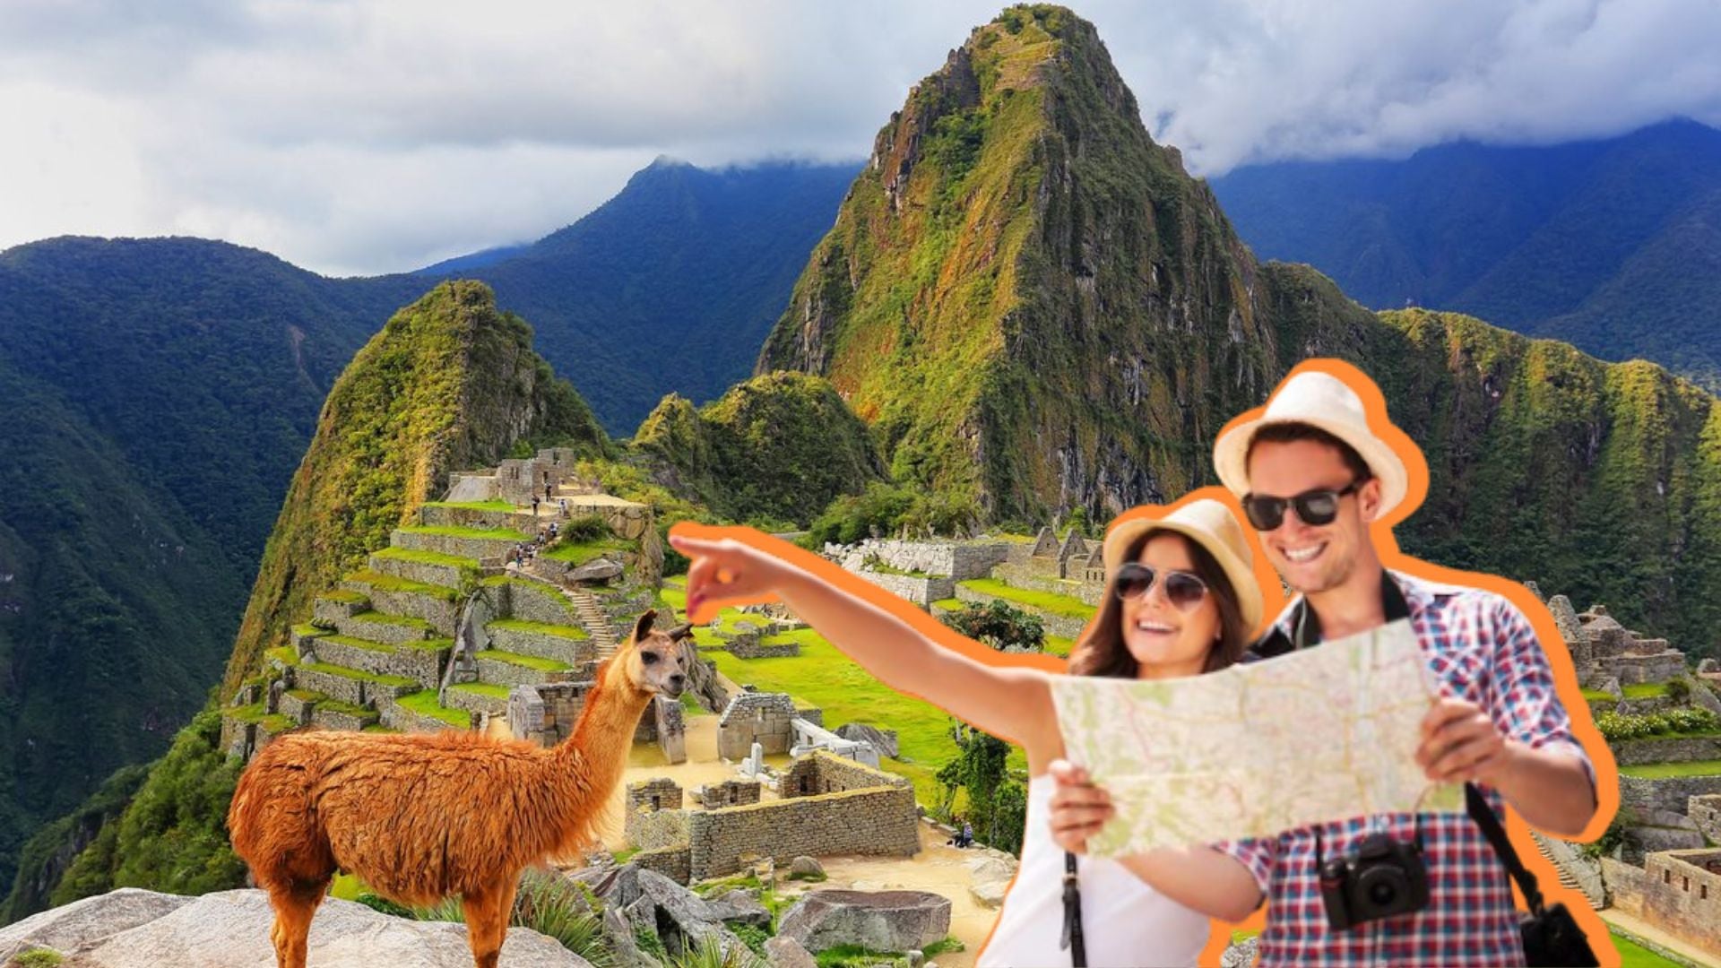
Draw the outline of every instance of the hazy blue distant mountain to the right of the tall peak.
M1721 391L1721 131L1277 162L1212 181L1261 258L1375 308L1466 312Z

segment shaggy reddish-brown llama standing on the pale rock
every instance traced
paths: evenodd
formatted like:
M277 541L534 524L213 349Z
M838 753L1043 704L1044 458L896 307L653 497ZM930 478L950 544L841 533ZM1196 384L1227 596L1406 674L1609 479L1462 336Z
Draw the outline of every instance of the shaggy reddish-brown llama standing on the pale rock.
M458 894L472 958L496 968L520 872L597 839L652 696L687 686L687 625L656 611L597 672L561 744L473 734L287 734L256 754L227 811L234 851L275 909L279 968L305 968L312 916L336 870L403 904Z

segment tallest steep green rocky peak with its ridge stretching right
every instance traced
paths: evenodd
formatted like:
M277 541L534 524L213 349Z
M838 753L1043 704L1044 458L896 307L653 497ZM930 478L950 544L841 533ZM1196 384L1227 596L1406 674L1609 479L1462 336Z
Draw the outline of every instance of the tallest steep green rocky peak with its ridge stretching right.
M1714 648L1714 396L1256 264L1058 7L1005 10L909 95L757 369L828 375L900 479L993 518L1105 520L1213 482L1218 429L1308 357L1372 374L1425 448L1408 549Z

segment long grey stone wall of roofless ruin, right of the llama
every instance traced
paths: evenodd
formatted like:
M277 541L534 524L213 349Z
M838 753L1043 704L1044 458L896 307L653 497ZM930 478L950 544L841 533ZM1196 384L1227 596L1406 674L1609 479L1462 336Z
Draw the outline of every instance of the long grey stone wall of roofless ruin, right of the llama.
M730 806L692 815L692 880L743 868L743 856L780 865L797 856L914 856L921 847L914 787L873 787Z

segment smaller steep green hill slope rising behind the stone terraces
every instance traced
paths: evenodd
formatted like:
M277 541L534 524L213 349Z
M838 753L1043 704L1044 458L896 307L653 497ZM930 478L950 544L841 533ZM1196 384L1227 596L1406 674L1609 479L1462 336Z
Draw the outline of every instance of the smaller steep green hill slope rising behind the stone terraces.
M451 470L518 443L604 453L590 408L532 351L532 329L482 282L444 282L394 313L329 391L263 551L222 694L287 639L310 598L377 548Z

